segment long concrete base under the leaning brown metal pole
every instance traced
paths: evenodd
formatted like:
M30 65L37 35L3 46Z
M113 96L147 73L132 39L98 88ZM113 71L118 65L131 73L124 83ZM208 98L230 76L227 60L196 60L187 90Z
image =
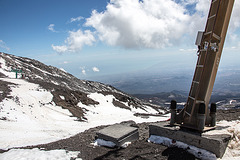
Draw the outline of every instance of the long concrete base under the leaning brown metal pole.
M218 128L216 128L218 129ZM220 129L220 128L219 128ZM149 125L149 135L156 135L181 141L183 143L205 149L221 158L225 153L231 136L228 134L208 135L181 130L179 126L169 126L169 122L159 122Z

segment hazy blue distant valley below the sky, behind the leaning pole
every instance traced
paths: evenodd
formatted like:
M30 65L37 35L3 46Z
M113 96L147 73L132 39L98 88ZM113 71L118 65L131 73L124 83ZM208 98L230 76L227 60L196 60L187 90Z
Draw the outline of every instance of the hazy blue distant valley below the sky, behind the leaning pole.
M191 73L191 72L189 72ZM218 72L211 102L219 108L240 106L240 70L225 69ZM125 74L103 80L124 92L157 105L168 107L172 99L184 105L190 90L192 74Z

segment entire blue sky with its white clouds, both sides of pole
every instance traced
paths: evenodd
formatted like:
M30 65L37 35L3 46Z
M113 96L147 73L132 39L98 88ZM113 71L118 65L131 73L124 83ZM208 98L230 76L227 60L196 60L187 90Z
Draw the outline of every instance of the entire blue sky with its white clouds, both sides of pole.
M196 34L204 30L209 5L209 0L0 0L0 51L91 80L194 71ZM239 67L239 9L236 1L220 69Z

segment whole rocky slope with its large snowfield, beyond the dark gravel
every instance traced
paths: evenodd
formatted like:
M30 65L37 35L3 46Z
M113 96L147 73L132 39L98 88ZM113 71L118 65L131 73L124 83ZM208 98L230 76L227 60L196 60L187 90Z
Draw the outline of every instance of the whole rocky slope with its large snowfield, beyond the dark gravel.
M160 106L112 86L5 53L0 95L0 149L51 142L100 125L169 118L160 117L166 113Z

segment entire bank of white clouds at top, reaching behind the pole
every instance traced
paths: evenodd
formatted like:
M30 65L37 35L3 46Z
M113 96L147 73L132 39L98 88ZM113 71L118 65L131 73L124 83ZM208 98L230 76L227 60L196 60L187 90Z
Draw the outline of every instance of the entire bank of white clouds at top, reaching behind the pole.
M63 49L79 51L97 40L123 48L164 48L186 43L204 30L211 0L110 0L102 12L92 11L84 26L94 30L69 32ZM240 27L240 1L235 2L230 26ZM189 9L190 8L190 9ZM82 17L72 18L79 21ZM55 46L55 48L60 46ZM54 49L54 48L53 48ZM57 49L55 49L57 51Z

